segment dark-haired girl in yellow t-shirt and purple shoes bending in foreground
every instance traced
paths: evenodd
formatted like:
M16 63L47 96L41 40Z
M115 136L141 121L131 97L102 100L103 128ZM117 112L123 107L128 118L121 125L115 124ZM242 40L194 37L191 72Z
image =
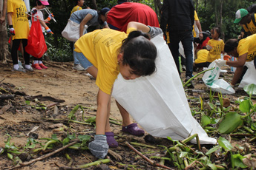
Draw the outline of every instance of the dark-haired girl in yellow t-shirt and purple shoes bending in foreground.
M157 48L149 39L160 33L163 33L160 28L132 21L128 24L127 33L105 28L82 35L76 41L74 55L82 67L96 78L99 86L96 135L89 143L89 149L96 157L104 158L108 147L118 146L108 121L111 92L117 75L120 73L125 80L133 80L154 73ZM116 104L122 115L122 132L144 135L137 123L132 123L128 112Z

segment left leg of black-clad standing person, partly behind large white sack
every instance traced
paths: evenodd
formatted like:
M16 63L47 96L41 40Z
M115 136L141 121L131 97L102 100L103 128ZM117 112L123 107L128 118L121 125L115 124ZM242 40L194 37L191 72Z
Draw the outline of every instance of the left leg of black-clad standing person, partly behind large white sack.
M179 42L180 39L178 38L177 33L170 33L170 43L168 44L169 49L171 50L171 55L174 58L174 62L180 74L180 61L179 61Z

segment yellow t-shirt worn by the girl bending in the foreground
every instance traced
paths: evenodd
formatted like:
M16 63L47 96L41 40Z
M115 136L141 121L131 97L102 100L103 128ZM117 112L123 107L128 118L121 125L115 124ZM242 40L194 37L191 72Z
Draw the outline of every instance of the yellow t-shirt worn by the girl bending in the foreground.
M82 52L88 61L98 69L96 85L108 95L111 95L114 81L119 74L117 55L122 46L122 40L134 30L134 28L129 28L127 34L108 28L94 30L82 35L76 41L75 51Z

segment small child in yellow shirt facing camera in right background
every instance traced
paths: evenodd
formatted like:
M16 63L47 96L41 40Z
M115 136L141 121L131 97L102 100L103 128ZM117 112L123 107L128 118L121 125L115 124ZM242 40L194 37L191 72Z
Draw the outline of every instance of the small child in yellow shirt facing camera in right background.
M224 53L224 42L220 39L220 27L211 29L211 40L208 41L206 49L209 50L207 62L211 64L212 61L220 59L220 54Z

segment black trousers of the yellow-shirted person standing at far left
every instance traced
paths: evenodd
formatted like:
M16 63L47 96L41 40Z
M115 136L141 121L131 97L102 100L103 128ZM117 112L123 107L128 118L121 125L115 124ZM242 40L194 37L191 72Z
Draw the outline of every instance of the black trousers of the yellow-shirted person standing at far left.
M26 65L30 64L30 55L26 52L25 47L27 46L27 39L14 39L13 40L13 47L11 50L11 55L13 59L13 64L18 64L18 49L19 44L22 41L22 47L24 51L24 61Z

